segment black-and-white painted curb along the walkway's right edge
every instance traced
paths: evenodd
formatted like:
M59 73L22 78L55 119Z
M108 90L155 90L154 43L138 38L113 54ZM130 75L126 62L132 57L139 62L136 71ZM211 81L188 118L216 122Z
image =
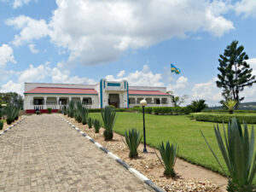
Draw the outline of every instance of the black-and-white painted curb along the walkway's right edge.
M61 115L59 115L61 117ZM129 172L131 172L133 175L135 175L136 177L138 177L140 180L143 181L143 183L148 184L149 187L151 187L152 189L154 189L154 191L156 192L166 192L166 190L164 189L160 189L160 187L158 187L154 182L152 182L150 179L148 179L148 177L144 176L141 172L138 172L136 169L132 168L131 166L129 166L127 163L125 163L125 161L121 160L118 156L116 156L115 154L113 154L112 152L110 152L108 150L108 148L104 148L100 143L96 143L96 141L94 139L92 139L91 137L87 136L83 131L80 131L78 127L76 127L75 125L73 125L71 122L69 122L67 119L61 117L61 119L63 119L68 125L72 126L73 129L75 129L76 131L78 131L82 136L84 136L85 138L87 138L91 143L94 143L96 145L97 148L100 148L105 154L108 154L109 157L111 157L113 160L115 160L116 162L118 162L121 166L124 166L125 169L127 169Z

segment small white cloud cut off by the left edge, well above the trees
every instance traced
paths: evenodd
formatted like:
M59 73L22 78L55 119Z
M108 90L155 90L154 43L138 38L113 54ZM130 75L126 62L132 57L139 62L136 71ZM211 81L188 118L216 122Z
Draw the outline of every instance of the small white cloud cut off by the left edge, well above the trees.
M8 62L16 63L14 50L8 44L0 47L0 67L5 67Z

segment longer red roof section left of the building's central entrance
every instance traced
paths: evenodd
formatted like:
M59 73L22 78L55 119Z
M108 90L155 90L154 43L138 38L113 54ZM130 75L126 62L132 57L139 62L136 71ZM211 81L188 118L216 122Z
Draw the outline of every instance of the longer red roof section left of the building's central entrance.
M58 87L37 87L25 93L48 93L48 94L97 94L94 89L58 88Z

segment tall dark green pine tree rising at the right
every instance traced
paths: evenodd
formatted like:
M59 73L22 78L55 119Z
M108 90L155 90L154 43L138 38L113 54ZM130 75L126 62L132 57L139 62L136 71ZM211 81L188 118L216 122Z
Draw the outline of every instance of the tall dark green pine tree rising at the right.
M219 55L216 84L218 88L223 89L224 100L232 99L237 103L241 102L244 99L239 96L241 91L256 83L255 76L252 74L253 69L246 61L249 57L243 49L242 45L238 46L238 41L233 41L224 50L224 55Z

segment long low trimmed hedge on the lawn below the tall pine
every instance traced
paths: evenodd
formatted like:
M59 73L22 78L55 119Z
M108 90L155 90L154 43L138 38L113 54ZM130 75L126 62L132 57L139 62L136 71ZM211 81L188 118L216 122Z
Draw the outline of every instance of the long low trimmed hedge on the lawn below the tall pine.
M236 117L240 123L256 124L256 115L252 113L193 113L193 118L198 121L208 121L215 123L227 123L232 117Z

